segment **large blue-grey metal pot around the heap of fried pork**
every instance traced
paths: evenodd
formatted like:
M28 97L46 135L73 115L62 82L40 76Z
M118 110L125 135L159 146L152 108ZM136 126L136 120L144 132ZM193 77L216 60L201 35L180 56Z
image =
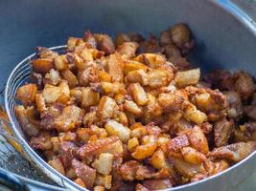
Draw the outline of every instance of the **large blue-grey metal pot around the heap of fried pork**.
M178 22L190 26L197 42L195 51L190 54L195 66L204 72L221 68L244 70L256 76L256 24L252 19L256 18L255 4L242 0L1 1L1 86L4 87L19 60L31 54L35 46L62 45L68 36L82 36L86 30L111 35L140 32L148 36L150 32L159 34ZM12 84L10 80L8 84ZM11 92L12 87L6 87L6 109L12 130L28 159L59 185L72 190L82 189L47 165L29 147L20 127L12 119ZM219 175L169 190L231 190L255 170L254 152Z

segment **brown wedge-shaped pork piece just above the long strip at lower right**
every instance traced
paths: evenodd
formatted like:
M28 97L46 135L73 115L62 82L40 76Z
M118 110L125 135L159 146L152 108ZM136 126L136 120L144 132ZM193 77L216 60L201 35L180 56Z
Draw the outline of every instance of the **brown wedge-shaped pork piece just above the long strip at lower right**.
M222 118L214 123L214 141L217 147L227 144L228 138L234 130L234 122Z

